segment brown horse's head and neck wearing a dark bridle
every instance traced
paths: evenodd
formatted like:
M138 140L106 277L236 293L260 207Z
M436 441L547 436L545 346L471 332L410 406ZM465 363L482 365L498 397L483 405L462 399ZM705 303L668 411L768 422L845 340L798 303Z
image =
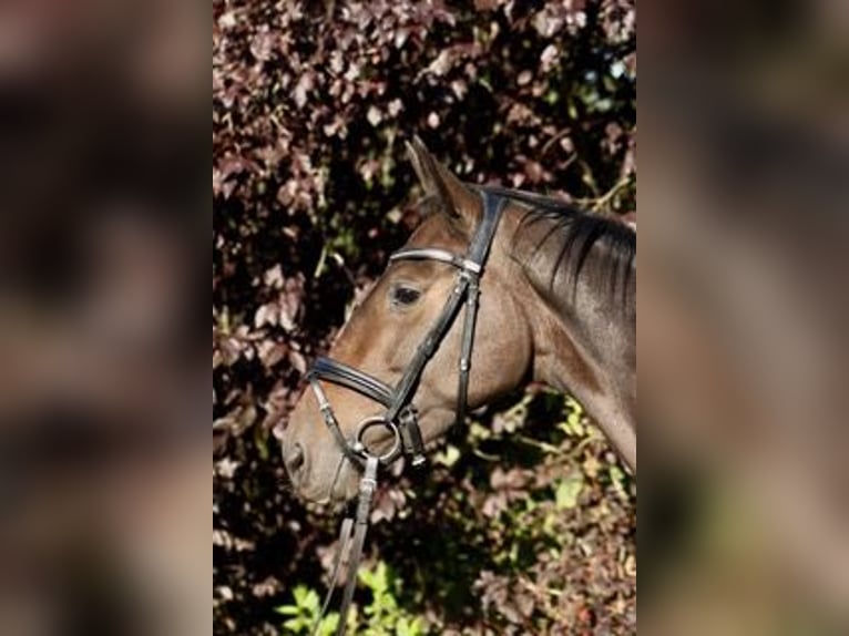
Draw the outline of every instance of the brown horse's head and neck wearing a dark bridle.
M307 376L280 434L294 490L348 501L366 460L422 463L467 409L530 382L572 394L636 472L635 230L407 148L422 220Z

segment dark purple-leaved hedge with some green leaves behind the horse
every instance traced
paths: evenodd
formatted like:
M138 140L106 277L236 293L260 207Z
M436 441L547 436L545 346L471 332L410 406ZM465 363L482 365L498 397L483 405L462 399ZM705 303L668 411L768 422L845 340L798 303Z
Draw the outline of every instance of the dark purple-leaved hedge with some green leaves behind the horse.
M420 134L470 182L633 212L634 6L213 7L214 625L297 634L337 520L289 495L272 430L418 220L403 141ZM633 633L634 502L574 402L493 407L426 479L382 486L358 625Z

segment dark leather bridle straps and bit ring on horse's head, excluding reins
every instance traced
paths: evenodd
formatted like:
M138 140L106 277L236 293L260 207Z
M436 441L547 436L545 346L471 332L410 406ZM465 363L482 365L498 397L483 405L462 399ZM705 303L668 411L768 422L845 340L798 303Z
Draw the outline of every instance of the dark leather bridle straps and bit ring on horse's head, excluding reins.
M310 369L307 379L313 387L325 424L333 433L345 457L355 465L365 468L371 453L366 449L362 437L366 429L382 424L392 435L392 448L378 455L379 463L388 465L406 454L413 466L424 463L424 442L419 427L418 412L412 403L416 389L424 372L428 361L439 349L440 343L457 319L460 308L466 305L462 341L459 360L459 386L457 391L457 422L466 418L466 407L469 394L469 371L471 369L472 345L474 342L474 325L478 317L480 278L483 266L498 229L505 197L481 188L483 203L481 223L474 232L464 256L452 254L436 247L407 247L399 249L389 257L390 263L398 260L436 260L457 268L454 286L446 301L442 312L436 319L430 330L417 347L412 360L395 387L382 380L360 371L354 367L330 358L318 358ZM359 423L352 438L346 438L334 413L320 381L331 382L350 389L370 400L382 404L386 411L377 417Z

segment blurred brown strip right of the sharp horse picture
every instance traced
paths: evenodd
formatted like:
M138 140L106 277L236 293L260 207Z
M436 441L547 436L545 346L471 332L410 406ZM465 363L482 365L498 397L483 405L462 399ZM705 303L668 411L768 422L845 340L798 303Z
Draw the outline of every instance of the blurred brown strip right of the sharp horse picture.
M649 634L849 632L848 9L643 6Z

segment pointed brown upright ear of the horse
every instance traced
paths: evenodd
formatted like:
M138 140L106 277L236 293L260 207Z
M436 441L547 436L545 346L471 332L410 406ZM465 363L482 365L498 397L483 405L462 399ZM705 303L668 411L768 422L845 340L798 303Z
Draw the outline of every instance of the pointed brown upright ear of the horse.
M478 195L439 163L418 135L407 142L407 152L424 193L436 197L440 209L452 219L463 222L467 230L475 227L481 216Z

